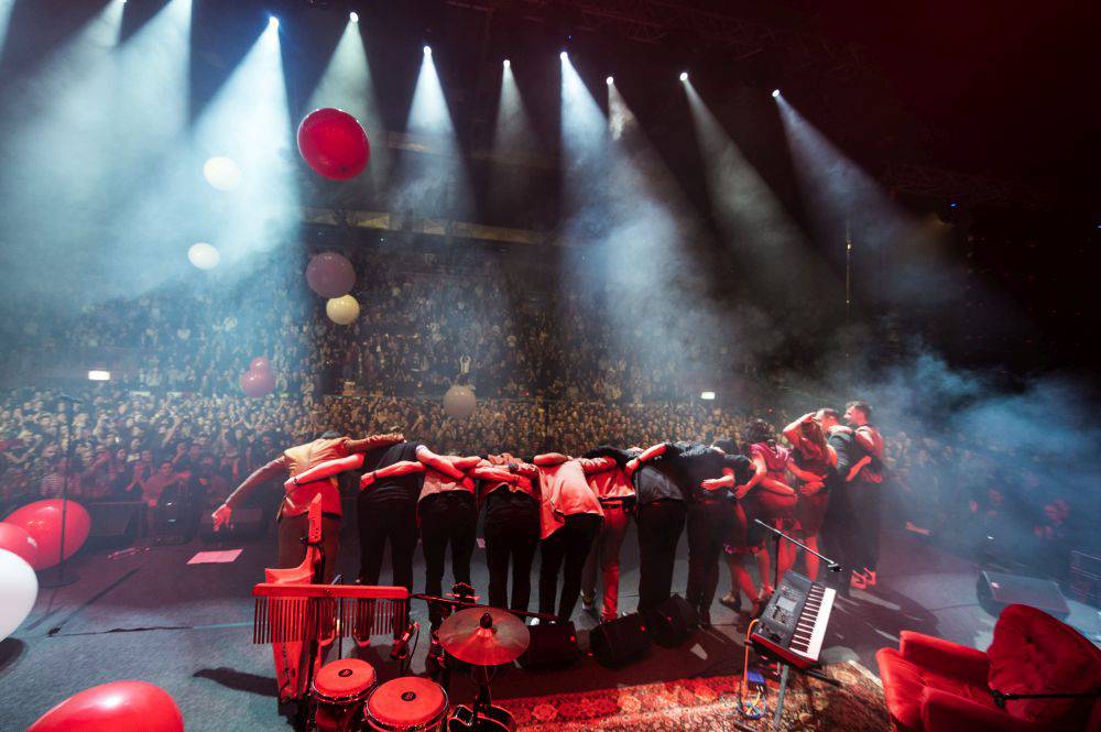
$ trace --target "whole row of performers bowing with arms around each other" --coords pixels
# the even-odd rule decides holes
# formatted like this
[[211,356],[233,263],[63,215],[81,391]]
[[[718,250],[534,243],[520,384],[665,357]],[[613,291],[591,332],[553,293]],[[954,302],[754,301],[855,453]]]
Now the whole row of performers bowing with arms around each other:
[[[215,511],[215,527],[230,522],[233,507],[255,487],[290,474],[279,511],[279,566],[302,561],[306,506],[320,495],[325,575],[331,579],[341,518],[336,477],[357,471],[360,582],[380,582],[389,543],[392,583],[412,591],[419,535],[427,594],[442,593],[448,547],[455,581],[470,583],[478,513],[483,510],[490,604],[528,609],[531,569],[538,549],[538,612],[565,621],[579,597],[592,605],[598,573],[601,615],[604,620],[618,615],[619,556],[631,515],[639,526],[639,609],[659,605],[672,592],[676,548],[687,525],[685,598],[706,624],[724,555],[731,587],[749,597],[751,611],[771,592],[766,583],[755,586],[744,566],[748,557],[755,557],[760,577],[770,577],[764,536],[754,531],[753,518],[798,531],[814,542],[826,511],[828,472],[837,470],[838,460],[821,434],[814,439],[804,436],[806,422],[805,417],[785,430],[796,446],[791,459],[763,422],[754,425],[748,457],[729,439],[710,446],[661,443],[645,450],[602,446],[580,458],[557,452],[530,459],[509,454],[442,456],[396,431],[364,439],[330,431],[286,449],[249,476]],[[860,468],[852,462],[851,469]],[[792,481],[797,489],[784,482],[787,471],[797,479]],[[782,553],[781,571],[794,559],[794,553]],[[815,573],[813,560],[808,564]],[[733,596],[724,601],[740,604]],[[440,619],[430,621],[435,626]]]

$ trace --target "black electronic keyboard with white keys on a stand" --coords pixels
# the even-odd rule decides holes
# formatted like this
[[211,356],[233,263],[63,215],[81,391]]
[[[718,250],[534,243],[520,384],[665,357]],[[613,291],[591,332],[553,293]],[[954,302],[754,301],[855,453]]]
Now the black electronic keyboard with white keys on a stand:
[[836,594],[798,572],[787,572],[753,626],[750,641],[782,663],[802,669],[815,666]]

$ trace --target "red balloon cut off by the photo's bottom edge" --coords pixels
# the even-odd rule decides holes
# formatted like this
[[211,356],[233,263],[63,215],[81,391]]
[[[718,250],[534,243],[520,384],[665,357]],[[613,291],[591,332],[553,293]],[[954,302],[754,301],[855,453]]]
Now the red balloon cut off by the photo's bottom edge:
[[184,715],[168,692],[145,681],[112,681],[57,704],[26,732],[184,732]]

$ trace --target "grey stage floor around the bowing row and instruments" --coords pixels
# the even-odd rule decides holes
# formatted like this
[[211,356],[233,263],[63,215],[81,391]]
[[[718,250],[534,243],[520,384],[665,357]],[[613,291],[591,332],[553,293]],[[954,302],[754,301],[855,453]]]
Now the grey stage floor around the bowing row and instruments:
[[[345,577],[355,576],[355,532],[346,531],[339,565]],[[686,544],[680,542],[674,581],[682,593]],[[622,611],[631,611],[637,601],[639,579],[633,524],[623,546],[620,602]],[[874,671],[875,652],[896,645],[902,630],[986,647],[994,619],[975,599],[977,565],[909,534],[884,535],[882,546],[879,587],[872,592],[853,591],[850,600],[839,599],[835,607],[826,662],[854,659]],[[244,550],[232,564],[187,565],[197,551],[217,548]],[[276,713],[271,651],[251,644],[250,590],[273,558],[273,537],[246,544],[154,546],[113,559],[108,554],[85,550],[78,555],[70,567],[79,580],[40,590],[31,615],[0,644],[0,728],[25,729],[55,703],[90,686],[138,679],[167,690],[188,730],[290,729]],[[722,576],[720,593],[728,587],[724,569]],[[415,577],[419,590],[424,578],[419,551]],[[473,560],[476,587],[484,590],[487,579],[484,549],[479,548]],[[1069,622],[1095,638],[1101,633],[1098,611],[1070,604]],[[415,602],[413,611],[427,625],[424,604]],[[512,668],[494,681],[494,696],[531,697],[739,674],[738,618],[716,603],[712,619],[711,630],[701,631],[682,647],[654,646],[647,657],[620,669],[604,668],[590,657],[564,670]],[[579,642],[587,648],[586,631],[596,621],[580,608],[574,620]],[[426,645],[422,636],[414,673],[424,668]],[[368,655],[382,680],[396,675],[388,652],[389,643]],[[454,680],[453,701],[469,700],[472,692],[468,680]]]

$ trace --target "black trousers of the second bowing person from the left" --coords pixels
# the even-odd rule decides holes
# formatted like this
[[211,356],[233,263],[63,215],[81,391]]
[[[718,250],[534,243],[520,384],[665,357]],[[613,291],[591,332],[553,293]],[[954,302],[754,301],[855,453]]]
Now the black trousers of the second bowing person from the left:
[[416,550],[416,502],[360,493],[356,504],[359,518],[359,580],[378,584],[382,555],[390,542],[393,583],[413,591],[413,553]]

